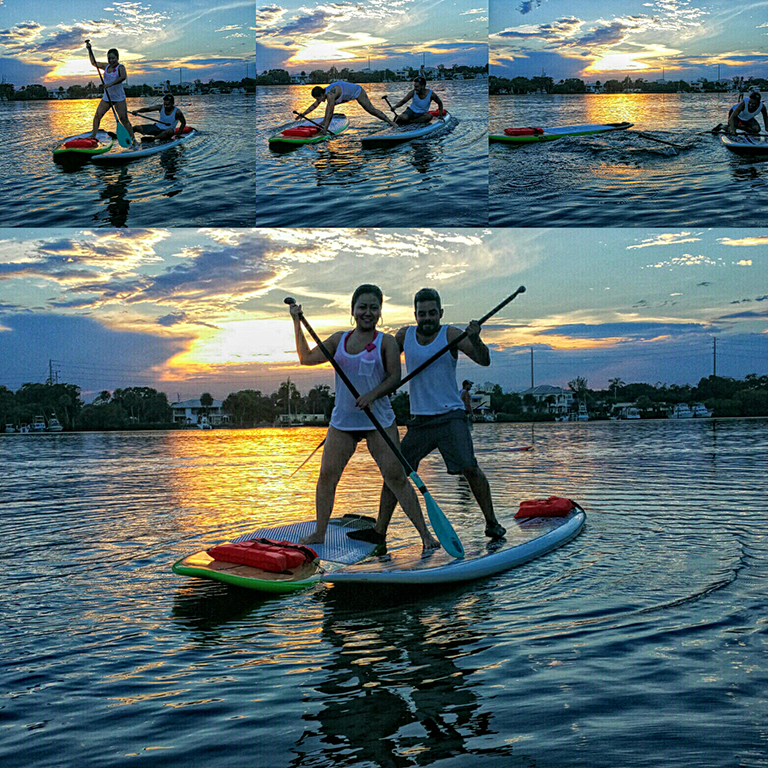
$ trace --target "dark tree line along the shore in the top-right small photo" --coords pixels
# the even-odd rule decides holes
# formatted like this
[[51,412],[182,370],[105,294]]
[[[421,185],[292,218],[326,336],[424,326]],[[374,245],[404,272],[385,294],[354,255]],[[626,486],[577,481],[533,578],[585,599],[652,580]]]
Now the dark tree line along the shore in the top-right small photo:
[[[664,82],[650,82],[638,77],[632,80],[627,76],[623,80],[607,80],[601,83],[599,80],[595,83],[596,88],[603,93],[693,93],[703,91],[704,93],[715,93],[725,91],[725,81],[710,81],[706,78],[701,83],[701,88],[694,87],[685,80],[665,80]],[[730,81],[738,91],[749,91],[751,89],[764,90],[768,88],[768,80],[760,77],[750,77],[745,80],[743,77],[734,77]],[[560,80],[557,83],[554,78],[546,77],[496,77],[491,75],[488,78],[488,93],[492,96],[504,94],[526,94],[526,93],[587,93],[589,91],[587,84],[577,77]]]

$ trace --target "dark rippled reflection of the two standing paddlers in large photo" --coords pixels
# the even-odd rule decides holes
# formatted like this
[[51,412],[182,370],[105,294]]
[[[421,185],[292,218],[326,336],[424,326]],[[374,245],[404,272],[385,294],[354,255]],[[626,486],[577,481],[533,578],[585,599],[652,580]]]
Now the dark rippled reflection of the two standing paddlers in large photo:
[[[494,733],[469,682],[475,670],[458,664],[456,653],[457,637],[462,648],[484,639],[478,627],[491,620],[490,594],[437,611],[430,600],[393,607],[384,597],[377,605],[386,610],[366,614],[374,594],[334,587],[323,596],[330,663],[322,664],[325,679],[305,683],[305,701],[322,706],[304,715],[294,748],[301,765],[319,754],[337,766],[432,765],[466,755],[469,739]],[[405,759],[409,747],[418,760]]]

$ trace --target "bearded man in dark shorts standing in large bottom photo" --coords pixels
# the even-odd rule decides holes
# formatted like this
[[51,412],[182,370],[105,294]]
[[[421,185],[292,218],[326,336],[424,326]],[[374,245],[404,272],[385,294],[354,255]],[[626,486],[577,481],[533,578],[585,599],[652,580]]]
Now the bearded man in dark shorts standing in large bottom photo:
[[[453,325],[440,324],[443,309],[436,290],[422,288],[414,297],[413,305],[416,327],[406,326],[395,334],[398,347],[405,352],[405,364],[409,370],[415,370],[462,333]],[[456,382],[459,350],[482,366],[491,364],[491,355],[480,339],[480,324],[476,320],[469,323],[466,332],[466,338],[456,347],[438,357],[411,380],[412,419],[403,438],[402,453],[418,471],[419,462],[437,448],[448,474],[466,478],[485,518],[485,535],[496,541],[507,531],[496,519],[488,479],[477,464],[466,407]],[[392,388],[382,390],[386,394],[392,391]],[[385,484],[374,528],[354,531],[347,536],[373,543],[384,542],[394,509],[395,497]]]

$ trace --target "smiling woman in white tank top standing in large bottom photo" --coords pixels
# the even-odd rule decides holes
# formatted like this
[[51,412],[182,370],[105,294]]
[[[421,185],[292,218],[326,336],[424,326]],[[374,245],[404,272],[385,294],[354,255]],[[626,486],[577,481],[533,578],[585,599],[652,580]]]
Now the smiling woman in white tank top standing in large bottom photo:
[[[388,488],[392,488],[393,498],[400,502],[419,532],[424,550],[440,546],[427,529],[416,491],[408,481],[402,465],[363,411],[363,408],[369,407],[392,442],[399,444],[392,405],[389,398],[381,397],[383,391],[396,389],[400,381],[400,354],[397,343],[392,335],[376,329],[381,320],[382,301],[382,293],[377,286],[359,286],[352,296],[354,329],[334,333],[324,342],[357,391],[365,394],[355,400],[336,374],[336,400],[325,438],[325,450],[315,491],[317,528],[314,533],[301,539],[300,544],[322,544],[325,541],[328,520],[333,512],[336,486],[357,444],[365,439],[371,456],[379,465],[384,482]],[[310,350],[307,344],[301,324],[300,304],[291,305],[291,317],[299,362],[302,365],[328,362],[319,347]]]

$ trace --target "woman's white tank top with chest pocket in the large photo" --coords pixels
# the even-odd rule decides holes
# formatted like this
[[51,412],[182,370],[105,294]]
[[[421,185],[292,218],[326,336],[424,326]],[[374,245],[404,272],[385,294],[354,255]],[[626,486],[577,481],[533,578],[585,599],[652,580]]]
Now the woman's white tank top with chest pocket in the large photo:
[[[374,340],[362,352],[351,355],[346,350],[347,339],[352,331],[345,334],[339,344],[333,359],[339,364],[347,378],[354,384],[355,389],[364,395],[375,387],[378,387],[387,377],[384,363],[381,359],[381,344],[384,335],[377,333]],[[395,412],[388,397],[380,397],[371,405],[373,415],[378,419],[382,427],[388,427],[395,420]],[[360,430],[376,429],[373,422],[364,411],[355,405],[355,397],[347,389],[347,385],[336,374],[336,400],[331,414],[331,426],[342,432],[357,432]]]

